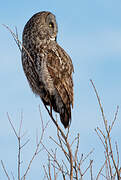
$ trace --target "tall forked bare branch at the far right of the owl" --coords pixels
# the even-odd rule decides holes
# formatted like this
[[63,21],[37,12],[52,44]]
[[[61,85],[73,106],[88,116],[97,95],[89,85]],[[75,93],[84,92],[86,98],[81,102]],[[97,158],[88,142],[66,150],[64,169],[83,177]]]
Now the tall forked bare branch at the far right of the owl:
[[[101,113],[102,113],[102,117],[103,117],[103,122],[104,122],[104,127],[105,127],[105,130],[106,130],[106,135],[102,132],[101,129],[97,128],[98,131],[101,133],[102,137],[104,138],[104,140],[102,139],[102,137],[100,136],[100,134],[97,132],[96,130],[96,133],[98,135],[98,137],[100,138],[105,150],[106,150],[106,154],[105,154],[105,157],[106,157],[106,167],[107,167],[107,172],[108,172],[108,169],[109,169],[109,172],[110,172],[110,178],[114,178],[115,174],[113,175],[113,167],[111,166],[111,163],[113,163],[114,165],[114,168],[116,170],[116,174],[117,174],[117,179],[119,180],[120,179],[120,173],[119,173],[119,154],[118,154],[118,147],[116,145],[116,151],[117,151],[117,164],[116,164],[116,161],[114,159],[114,153],[113,153],[113,149],[112,149],[112,142],[111,142],[111,137],[110,137],[110,133],[111,133],[111,130],[114,126],[114,123],[116,121],[116,118],[117,118],[117,114],[118,114],[118,109],[119,109],[119,106],[117,106],[117,109],[116,109],[116,113],[115,113],[115,116],[114,116],[114,120],[110,125],[108,125],[107,123],[107,120],[105,118],[105,115],[104,115],[104,112],[103,112],[103,108],[102,108],[102,105],[101,105],[101,102],[100,102],[100,98],[98,96],[98,93],[97,93],[97,90],[95,88],[95,85],[93,83],[92,80],[91,81],[91,84],[94,88],[94,91],[96,93],[96,96],[97,96],[97,99],[98,99],[98,103],[99,103],[99,107],[101,109]],[[111,161],[112,160],[112,161]],[[109,176],[109,175],[108,175]]]

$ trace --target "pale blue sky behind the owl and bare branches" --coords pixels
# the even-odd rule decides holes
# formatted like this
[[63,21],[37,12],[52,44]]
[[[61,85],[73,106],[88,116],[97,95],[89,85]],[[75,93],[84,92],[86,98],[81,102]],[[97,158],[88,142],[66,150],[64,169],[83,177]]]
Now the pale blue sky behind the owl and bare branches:
[[[1,25],[11,29],[17,26],[21,40],[24,25],[36,12],[51,11],[58,23],[58,43],[71,56],[74,64],[74,109],[71,136],[80,133],[80,152],[88,153],[95,148],[94,168],[103,163],[103,148],[94,129],[103,125],[101,113],[91,86],[92,79],[99,91],[106,117],[111,121],[116,106],[119,113],[113,129],[113,140],[117,140],[121,152],[121,1],[2,1],[0,5],[0,159],[16,175],[17,140],[10,128],[6,112],[15,127],[19,127],[23,111],[23,131],[27,130],[30,143],[22,157],[31,158],[36,145],[36,130],[40,128],[38,106],[46,123],[49,119],[41,100],[31,92],[21,65],[20,52],[10,33]],[[49,136],[55,136],[54,125],[49,123],[45,144],[52,146]],[[55,128],[54,128],[55,129]],[[31,148],[32,147],[32,148]],[[52,146],[55,148],[55,146]],[[98,153],[98,156],[97,156]],[[90,157],[91,158],[91,157]],[[40,161],[38,162],[38,159]],[[40,153],[32,166],[28,179],[37,179],[46,159]],[[26,165],[26,163],[25,163]],[[24,163],[23,163],[24,166]],[[97,169],[97,168],[96,168]],[[35,174],[37,177],[35,177]],[[5,179],[0,167],[0,179]]]

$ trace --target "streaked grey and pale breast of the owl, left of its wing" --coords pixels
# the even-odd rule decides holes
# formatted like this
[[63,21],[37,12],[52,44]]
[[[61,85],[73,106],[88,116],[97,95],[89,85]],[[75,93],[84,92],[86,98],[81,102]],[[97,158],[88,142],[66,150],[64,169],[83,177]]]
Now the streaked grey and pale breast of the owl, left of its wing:
[[46,97],[47,92],[50,95],[55,94],[53,80],[47,69],[46,54],[43,52],[37,53],[36,55],[30,53],[33,62],[26,55],[26,52],[22,53],[23,69],[29,85],[32,91],[41,98]]

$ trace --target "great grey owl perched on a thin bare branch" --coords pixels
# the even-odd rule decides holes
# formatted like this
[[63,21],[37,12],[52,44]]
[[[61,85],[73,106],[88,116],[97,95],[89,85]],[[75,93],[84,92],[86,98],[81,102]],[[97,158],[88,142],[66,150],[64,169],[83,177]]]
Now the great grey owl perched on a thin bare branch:
[[64,127],[71,121],[74,71],[71,58],[57,43],[58,27],[51,12],[39,12],[26,23],[22,65],[32,91],[60,114]]

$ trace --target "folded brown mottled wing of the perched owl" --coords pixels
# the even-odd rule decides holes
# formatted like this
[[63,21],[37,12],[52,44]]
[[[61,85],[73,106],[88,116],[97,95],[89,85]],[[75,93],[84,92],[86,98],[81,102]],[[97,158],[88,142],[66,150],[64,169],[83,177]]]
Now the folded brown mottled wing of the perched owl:
[[48,50],[47,68],[63,103],[73,107],[73,65],[71,58],[58,44]]

